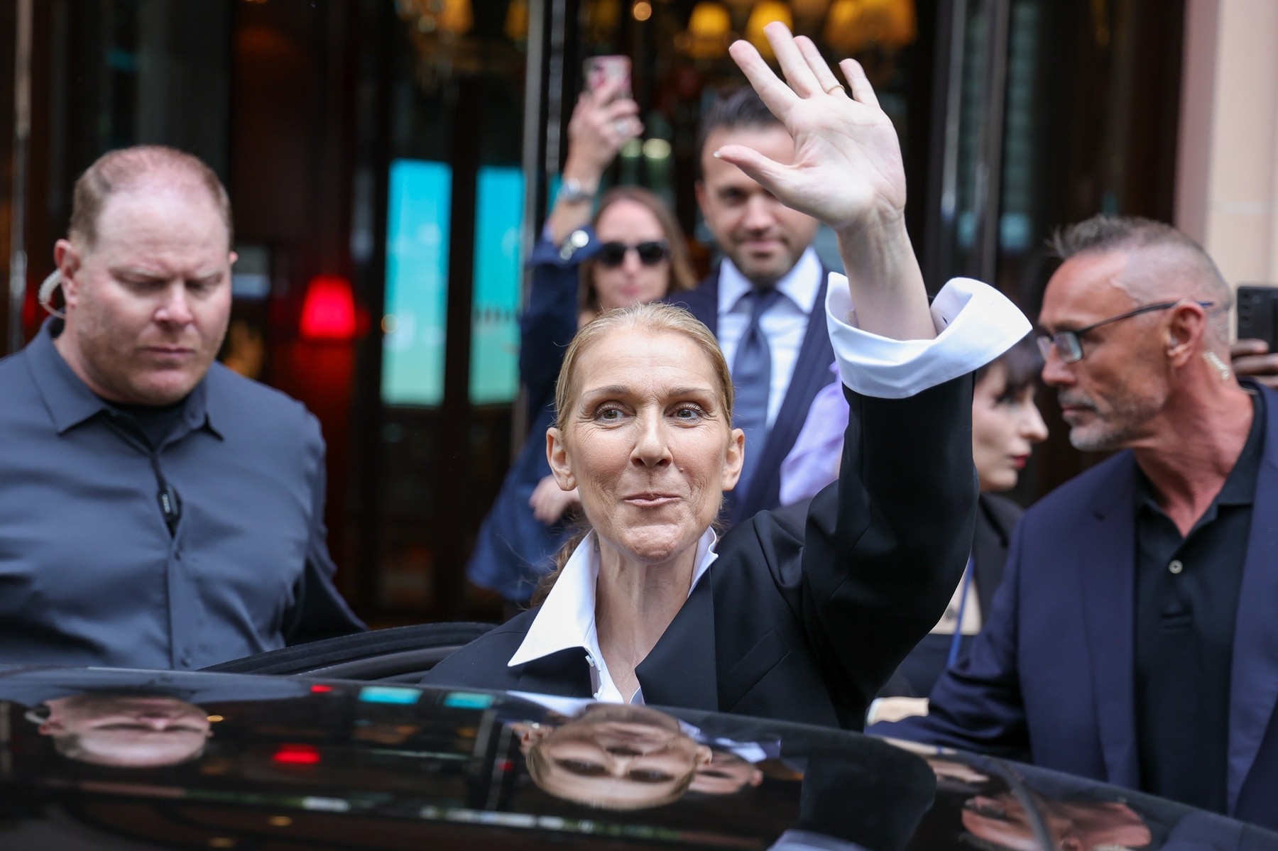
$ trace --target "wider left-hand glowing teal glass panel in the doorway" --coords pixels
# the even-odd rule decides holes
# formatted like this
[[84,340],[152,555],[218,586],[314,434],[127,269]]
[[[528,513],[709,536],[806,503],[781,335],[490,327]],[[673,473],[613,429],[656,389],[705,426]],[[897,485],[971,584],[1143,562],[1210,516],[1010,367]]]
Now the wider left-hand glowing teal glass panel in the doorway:
[[452,170],[442,162],[391,164],[386,230],[382,401],[443,401]]

